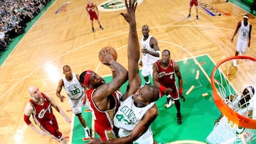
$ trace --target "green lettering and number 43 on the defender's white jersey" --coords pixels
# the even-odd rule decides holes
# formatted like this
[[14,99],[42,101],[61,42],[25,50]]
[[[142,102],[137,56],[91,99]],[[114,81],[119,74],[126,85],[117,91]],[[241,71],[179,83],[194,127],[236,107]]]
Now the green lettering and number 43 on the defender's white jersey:
[[116,118],[118,121],[124,121],[124,124],[127,125],[137,121],[135,113],[132,111],[132,109],[129,109],[128,106],[122,107],[122,109],[120,109],[120,112],[121,113],[116,114]]

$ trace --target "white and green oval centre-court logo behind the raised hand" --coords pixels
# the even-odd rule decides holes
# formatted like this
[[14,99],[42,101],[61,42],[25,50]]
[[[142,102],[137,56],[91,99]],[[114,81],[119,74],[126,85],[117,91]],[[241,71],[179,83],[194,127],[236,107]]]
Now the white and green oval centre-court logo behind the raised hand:
[[[143,0],[135,0],[138,4],[141,4]],[[125,9],[123,0],[108,0],[97,6],[99,11],[119,11]]]

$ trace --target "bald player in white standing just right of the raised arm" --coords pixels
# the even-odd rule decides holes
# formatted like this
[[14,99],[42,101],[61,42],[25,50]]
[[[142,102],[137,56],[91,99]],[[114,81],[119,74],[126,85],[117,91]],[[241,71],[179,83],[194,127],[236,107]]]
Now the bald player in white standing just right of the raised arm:
[[159,60],[161,52],[156,38],[149,35],[149,26],[142,26],[142,60],[139,65],[142,66],[142,76],[144,77],[146,84],[150,84],[149,75],[153,77],[153,64],[156,60]]

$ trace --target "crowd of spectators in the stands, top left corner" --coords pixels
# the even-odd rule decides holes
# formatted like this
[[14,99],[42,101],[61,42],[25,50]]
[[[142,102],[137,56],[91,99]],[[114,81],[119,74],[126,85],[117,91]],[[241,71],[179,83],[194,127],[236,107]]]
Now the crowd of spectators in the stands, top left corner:
[[25,32],[31,21],[50,0],[0,0],[0,51],[11,39]]

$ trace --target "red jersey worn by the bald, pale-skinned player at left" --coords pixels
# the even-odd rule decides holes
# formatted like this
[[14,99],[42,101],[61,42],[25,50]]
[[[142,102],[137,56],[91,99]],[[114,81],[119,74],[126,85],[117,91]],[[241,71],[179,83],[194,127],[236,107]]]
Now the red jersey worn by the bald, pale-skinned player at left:
[[41,94],[43,96],[43,105],[37,104],[32,99],[29,101],[32,104],[33,109],[35,109],[32,116],[38,126],[42,126],[44,123],[49,123],[49,121],[53,118],[53,110],[51,109],[50,101],[43,93]]

